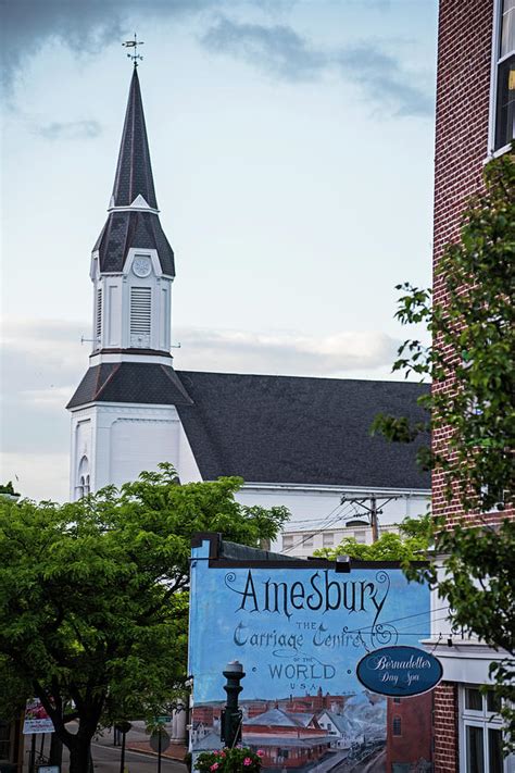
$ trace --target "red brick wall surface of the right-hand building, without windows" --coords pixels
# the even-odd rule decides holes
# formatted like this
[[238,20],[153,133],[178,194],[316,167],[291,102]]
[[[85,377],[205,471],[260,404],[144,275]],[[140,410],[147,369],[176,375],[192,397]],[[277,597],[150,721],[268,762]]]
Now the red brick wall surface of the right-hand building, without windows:
[[[481,184],[488,154],[488,120],[493,0],[440,0],[438,32],[437,121],[435,151],[435,265],[444,245],[459,237],[465,199]],[[435,300],[444,301],[435,279]],[[452,389],[452,384],[438,385]],[[445,446],[445,431],[435,434]],[[441,474],[434,474],[432,508],[456,515],[445,500]],[[435,690],[435,773],[459,770],[457,686],[442,682]]]

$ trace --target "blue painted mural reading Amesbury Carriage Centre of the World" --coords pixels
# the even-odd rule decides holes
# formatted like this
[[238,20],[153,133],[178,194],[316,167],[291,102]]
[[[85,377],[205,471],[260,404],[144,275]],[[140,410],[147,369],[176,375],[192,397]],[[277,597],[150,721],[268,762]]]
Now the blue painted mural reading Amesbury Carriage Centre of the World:
[[[238,660],[246,672],[242,743],[263,752],[265,771],[380,773],[387,761],[429,762],[430,737],[425,744],[420,727],[405,724],[416,724],[420,711],[430,716],[427,702],[416,702],[425,696],[409,699],[403,720],[412,753],[405,743],[395,747],[391,699],[356,674],[368,652],[429,635],[427,587],[391,565],[341,574],[324,560],[217,560],[212,541],[199,541],[190,591],[193,752],[223,746],[222,672]],[[423,725],[427,735],[430,721]]]

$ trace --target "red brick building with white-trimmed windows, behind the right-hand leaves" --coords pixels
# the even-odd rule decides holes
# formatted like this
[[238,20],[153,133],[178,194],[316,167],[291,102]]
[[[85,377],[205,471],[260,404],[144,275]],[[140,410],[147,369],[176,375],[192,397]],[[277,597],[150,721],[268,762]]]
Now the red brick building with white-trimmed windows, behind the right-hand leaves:
[[[435,264],[444,245],[459,236],[464,201],[480,187],[485,162],[510,151],[514,125],[515,0],[440,0]],[[436,301],[442,292],[437,280]],[[435,442],[442,441],[436,433]],[[438,475],[432,496],[436,514],[456,515]],[[513,511],[506,514],[513,516]],[[502,656],[475,639],[448,641],[449,622],[437,612],[441,607],[435,599],[431,648],[443,664],[443,682],[435,690],[435,773],[513,771],[515,760],[502,758],[493,696],[478,690],[489,683],[489,663]]]

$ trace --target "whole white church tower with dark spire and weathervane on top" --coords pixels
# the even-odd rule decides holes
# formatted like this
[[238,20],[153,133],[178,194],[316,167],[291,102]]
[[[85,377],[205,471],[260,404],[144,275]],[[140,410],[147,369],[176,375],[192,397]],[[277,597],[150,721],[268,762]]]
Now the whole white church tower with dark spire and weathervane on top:
[[[136,36],[124,45],[137,65]],[[91,253],[89,369],[67,404],[73,499],[134,481],[163,460],[179,470],[181,454],[191,453],[176,406],[192,401],[171,353],[174,276],[135,66],[108,220]]]

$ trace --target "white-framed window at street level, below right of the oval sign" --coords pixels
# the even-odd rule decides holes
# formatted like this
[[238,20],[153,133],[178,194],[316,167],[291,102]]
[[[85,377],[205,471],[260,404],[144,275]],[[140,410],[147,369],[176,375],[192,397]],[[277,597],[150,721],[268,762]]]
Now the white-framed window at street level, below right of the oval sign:
[[515,756],[503,755],[503,723],[493,690],[462,687],[460,695],[461,773],[513,773]]

